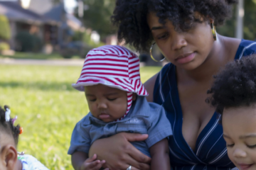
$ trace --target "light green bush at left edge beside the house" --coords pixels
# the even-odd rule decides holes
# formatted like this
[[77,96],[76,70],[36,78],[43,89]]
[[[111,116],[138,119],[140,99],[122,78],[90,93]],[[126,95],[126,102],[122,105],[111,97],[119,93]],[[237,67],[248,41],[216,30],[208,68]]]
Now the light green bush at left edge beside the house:
[[11,38],[11,28],[6,16],[0,15],[0,39],[9,40]]

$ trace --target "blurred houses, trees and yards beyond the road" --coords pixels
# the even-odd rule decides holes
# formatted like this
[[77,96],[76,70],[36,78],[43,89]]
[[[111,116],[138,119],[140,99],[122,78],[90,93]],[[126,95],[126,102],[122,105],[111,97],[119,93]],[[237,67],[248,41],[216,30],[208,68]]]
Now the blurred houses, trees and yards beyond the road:
[[[239,2],[218,33],[256,40],[256,0]],[[115,0],[1,0],[0,57],[84,58],[94,47],[117,45],[110,23],[114,5]]]

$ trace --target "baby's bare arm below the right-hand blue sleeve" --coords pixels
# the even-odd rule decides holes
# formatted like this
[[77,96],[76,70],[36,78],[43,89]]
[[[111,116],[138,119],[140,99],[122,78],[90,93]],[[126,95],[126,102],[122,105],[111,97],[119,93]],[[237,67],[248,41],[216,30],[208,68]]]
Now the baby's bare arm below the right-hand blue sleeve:
[[164,139],[157,142],[149,149],[151,154],[151,170],[170,170],[169,145],[168,140]]

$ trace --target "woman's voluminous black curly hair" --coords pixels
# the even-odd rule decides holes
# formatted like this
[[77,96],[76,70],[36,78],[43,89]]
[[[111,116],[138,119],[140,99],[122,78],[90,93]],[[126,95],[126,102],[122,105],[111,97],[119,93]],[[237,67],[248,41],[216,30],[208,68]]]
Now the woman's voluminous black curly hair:
[[[189,30],[203,18],[213,18],[215,26],[222,25],[230,16],[231,5],[238,0],[117,0],[112,23],[118,26],[118,39],[125,40],[139,51],[146,51],[153,40],[146,22],[149,12],[156,13],[159,23],[169,19],[176,30]],[[184,22],[186,21],[186,22]]]

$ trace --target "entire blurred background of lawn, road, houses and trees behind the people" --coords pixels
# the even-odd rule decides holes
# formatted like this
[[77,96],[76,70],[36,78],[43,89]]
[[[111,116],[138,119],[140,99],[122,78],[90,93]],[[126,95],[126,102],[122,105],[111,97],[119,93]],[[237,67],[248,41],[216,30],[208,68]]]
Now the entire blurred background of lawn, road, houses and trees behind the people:
[[[110,23],[114,5],[115,0],[0,0],[0,106],[8,104],[23,127],[18,151],[49,169],[72,169],[71,133],[89,110],[84,94],[71,84],[90,49],[120,45]],[[256,0],[239,0],[233,17],[217,31],[255,40]],[[139,55],[144,82],[164,63]]]

